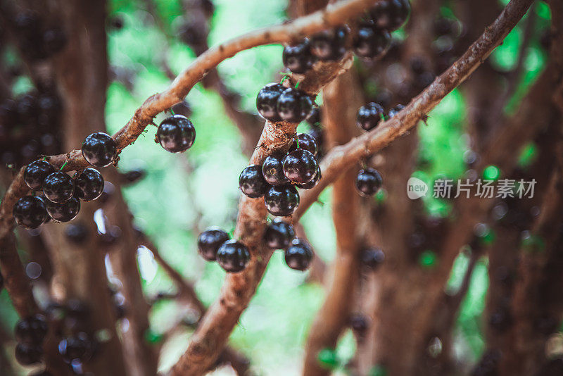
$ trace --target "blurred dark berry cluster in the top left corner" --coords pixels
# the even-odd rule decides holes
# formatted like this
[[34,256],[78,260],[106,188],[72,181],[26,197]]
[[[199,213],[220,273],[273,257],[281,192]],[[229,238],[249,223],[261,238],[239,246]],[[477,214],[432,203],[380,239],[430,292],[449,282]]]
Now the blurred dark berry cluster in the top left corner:
[[23,11],[7,19],[18,38],[19,50],[33,61],[49,58],[62,51],[67,44],[67,37],[61,27],[44,25],[36,13]]

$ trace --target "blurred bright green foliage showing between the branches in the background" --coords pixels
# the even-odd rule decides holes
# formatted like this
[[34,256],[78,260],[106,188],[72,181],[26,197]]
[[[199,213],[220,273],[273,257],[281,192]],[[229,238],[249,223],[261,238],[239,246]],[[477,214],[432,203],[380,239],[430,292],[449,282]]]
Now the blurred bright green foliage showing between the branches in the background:
[[[503,0],[503,2],[507,2]],[[121,30],[108,31],[110,65],[134,77],[132,89],[117,81],[108,87],[106,122],[110,132],[115,132],[151,94],[169,84],[164,65],[177,74],[191,61],[194,52],[174,37],[182,22],[179,0],[155,1],[156,15],[146,11],[146,2],[140,0],[111,0],[110,17],[120,16],[125,21]],[[216,11],[211,22],[209,44],[215,45],[257,27],[283,22],[286,18],[286,1],[281,0],[215,0]],[[511,113],[517,107],[529,84],[545,65],[545,52],[538,40],[548,25],[548,7],[540,2],[534,10],[538,14],[529,49],[524,51],[522,82],[506,108]],[[446,10],[450,14],[451,11]],[[156,26],[154,16],[162,20],[164,34]],[[529,16],[529,15],[528,15]],[[493,66],[510,71],[517,63],[524,25],[519,25],[507,36],[505,42],[491,56]],[[404,33],[398,33],[404,35]],[[244,51],[229,58],[219,66],[219,71],[230,89],[241,94],[241,105],[255,112],[255,95],[267,82],[277,77],[281,70],[281,46],[262,46]],[[13,88],[24,92],[30,87],[27,78],[21,78]],[[172,155],[154,144],[156,128],[148,127],[134,146],[121,154],[120,168],[144,167],[148,175],[144,180],[125,189],[125,196],[141,227],[169,261],[187,279],[196,281],[195,287],[205,304],[213,302],[219,293],[224,272],[216,263],[205,263],[196,251],[196,237],[204,227],[218,225],[232,231],[236,220],[239,189],[237,179],[247,163],[241,153],[241,137],[231,120],[225,115],[222,102],[215,92],[196,85],[186,100],[191,105],[196,125],[196,142],[187,153]],[[456,89],[445,97],[429,114],[426,125],[418,127],[419,168],[413,176],[432,186],[438,177],[457,180],[466,170],[464,154],[469,150],[464,122],[467,108],[462,90]],[[163,114],[156,118],[160,123]],[[521,153],[521,165],[529,163],[536,153],[535,146],[527,146]],[[502,172],[500,172],[502,174]],[[384,191],[378,196],[384,200]],[[325,261],[334,258],[335,234],[330,215],[330,189],[320,196],[303,218],[310,242]],[[322,203],[325,203],[324,205]],[[445,217],[450,204],[429,196],[424,199],[429,215]],[[533,242],[536,244],[537,242]],[[420,258],[425,268],[438,262],[434,251],[426,251]],[[459,289],[469,264],[465,253],[458,256],[448,291]],[[141,272],[148,266],[141,265]],[[165,272],[158,268],[153,277],[142,273],[144,289],[149,295],[173,292],[174,286]],[[251,358],[258,374],[297,375],[300,369],[303,344],[310,323],[324,299],[322,287],[305,284],[306,274],[284,265],[281,253],[275,253],[268,265],[264,280],[250,307],[243,313],[232,334],[234,346]],[[483,313],[488,273],[486,258],[478,261],[471,277],[469,291],[457,319],[454,337],[454,354],[462,361],[475,361],[483,351]],[[161,302],[151,313],[151,330],[146,339],[155,343],[169,329],[181,310],[172,302]],[[17,320],[6,292],[0,294],[0,318],[5,327],[13,327]],[[184,351],[189,330],[177,334],[163,348],[161,368],[169,367],[179,353]],[[343,366],[353,357],[355,341],[348,331],[339,341],[337,349],[320,354],[322,362],[330,368]],[[281,373],[279,370],[283,370]],[[377,367],[371,375],[386,375]]]

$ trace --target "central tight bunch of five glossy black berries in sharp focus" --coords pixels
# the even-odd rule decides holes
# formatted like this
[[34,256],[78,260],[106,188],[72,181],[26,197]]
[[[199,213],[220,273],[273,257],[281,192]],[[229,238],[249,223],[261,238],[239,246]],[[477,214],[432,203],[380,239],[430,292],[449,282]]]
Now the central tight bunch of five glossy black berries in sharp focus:
[[267,211],[286,217],[299,205],[296,187],[311,189],[321,178],[318,146],[308,133],[296,135],[288,153],[267,156],[262,165],[250,165],[239,176],[239,188],[252,199],[264,197]]

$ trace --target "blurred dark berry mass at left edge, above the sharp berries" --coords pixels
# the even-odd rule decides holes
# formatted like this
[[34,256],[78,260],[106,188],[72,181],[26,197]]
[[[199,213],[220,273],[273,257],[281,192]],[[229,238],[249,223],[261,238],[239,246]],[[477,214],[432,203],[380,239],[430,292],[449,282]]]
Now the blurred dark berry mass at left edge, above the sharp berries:
[[49,88],[0,104],[0,163],[17,168],[39,154],[61,153],[61,100]]

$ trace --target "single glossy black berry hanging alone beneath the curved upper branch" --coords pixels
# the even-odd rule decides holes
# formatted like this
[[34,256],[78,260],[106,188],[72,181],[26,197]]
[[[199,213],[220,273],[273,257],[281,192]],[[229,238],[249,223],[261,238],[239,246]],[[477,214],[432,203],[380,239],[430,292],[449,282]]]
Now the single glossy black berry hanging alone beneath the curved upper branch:
[[166,151],[182,153],[194,144],[196,128],[185,116],[172,115],[160,123],[156,139]]

